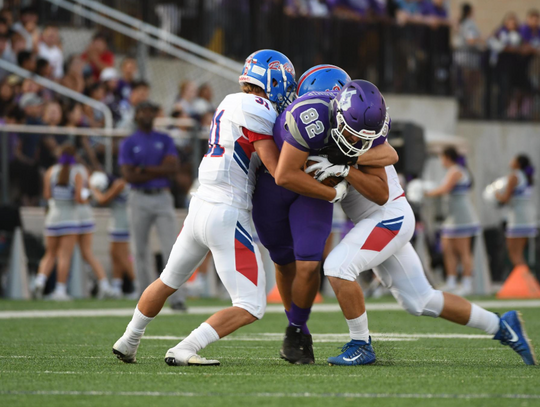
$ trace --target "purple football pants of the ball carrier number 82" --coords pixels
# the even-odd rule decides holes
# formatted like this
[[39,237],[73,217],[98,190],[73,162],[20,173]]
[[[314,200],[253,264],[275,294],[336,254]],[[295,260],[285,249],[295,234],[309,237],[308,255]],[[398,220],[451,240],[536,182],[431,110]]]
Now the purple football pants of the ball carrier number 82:
[[266,171],[259,172],[253,194],[253,222],[261,243],[280,266],[321,261],[332,231],[333,205],[277,186]]

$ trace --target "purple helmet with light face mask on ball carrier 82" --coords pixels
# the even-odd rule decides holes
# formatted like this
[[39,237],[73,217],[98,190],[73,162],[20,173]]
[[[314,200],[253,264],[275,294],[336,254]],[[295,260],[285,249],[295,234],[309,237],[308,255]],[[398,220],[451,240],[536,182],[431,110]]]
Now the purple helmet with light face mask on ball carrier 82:
[[373,140],[388,134],[386,103],[371,82],[357,79],[346,83],[332,103],[336,126],[332,138],[346,156],[364,154]]

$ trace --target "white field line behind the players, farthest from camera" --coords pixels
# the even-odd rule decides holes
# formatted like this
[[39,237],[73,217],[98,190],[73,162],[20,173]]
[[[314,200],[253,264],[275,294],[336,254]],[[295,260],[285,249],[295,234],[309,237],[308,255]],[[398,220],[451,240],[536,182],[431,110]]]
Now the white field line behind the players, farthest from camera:
[[[512,301],[475,301],[475,304],[488,309],[520,309],[540,308],[540,300],[512,300]],[[69,303],[65,304],[69,307]],[[367,303],[367,310],[373,311],[398,311],[401,310],[396,303]],[[210,315],[226,308],[225,306],[194,306],[189,307],[188,315]],[[313,312],[341,312],[338,304],[315,304]],[[266,307],[268,314],[283,313],[283,306],[269,305]],[[0,311],[0,319],[12,318],[72,318],[72,317],[130,317],[133,315],[132,308],[112,309],[62,309],[62,310],[27,310],[27,311]],[[170,308],[164,308],[160,315],[182,315]]]

